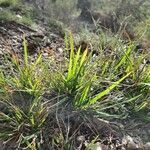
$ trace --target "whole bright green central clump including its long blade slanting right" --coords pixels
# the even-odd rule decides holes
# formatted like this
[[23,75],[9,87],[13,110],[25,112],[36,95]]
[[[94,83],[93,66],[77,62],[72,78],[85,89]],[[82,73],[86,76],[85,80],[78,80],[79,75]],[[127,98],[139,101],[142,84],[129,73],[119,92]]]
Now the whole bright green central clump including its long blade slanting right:
[[[101,91],[98,94],[90,96],[91,88],[96,80],[96,73],[91,73],[89,70],[90,54],[88,49],[85,49],[83,54],[80,52],[80,48],[75,53],[74,42],[72,36],[70,36],[69,44],[67,42],[67,49],[70,45],[70,58],[68,64],[67,74],[60,74],[60,79],[55,81],[57,84],[55,87],[58,91],[69,94],[69,97],[77,108],[87,108],[108,93],[116,88],[125,78],[127,78],[131,72],[127,73],[124,77],[114,82],[111,86],[106,87],[106,90]],[[91,62],[92,63],[92,62]],[[93,64],[94,66],[94,64]],[[91,74],[91,76],[89,75]]]

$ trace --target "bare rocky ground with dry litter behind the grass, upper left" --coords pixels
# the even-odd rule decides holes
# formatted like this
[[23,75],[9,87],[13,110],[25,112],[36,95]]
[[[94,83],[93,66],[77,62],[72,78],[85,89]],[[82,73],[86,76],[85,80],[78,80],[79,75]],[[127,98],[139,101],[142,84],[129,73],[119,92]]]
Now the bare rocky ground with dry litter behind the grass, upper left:
[[62,58],[64,41],[60,35],[47,31],[44,27],[29,28],[14,21],[0,22],[0,62],[6,54],[23,54],[23,37],[27,41],[29,55],[32,58],[38,53],[43,57]]

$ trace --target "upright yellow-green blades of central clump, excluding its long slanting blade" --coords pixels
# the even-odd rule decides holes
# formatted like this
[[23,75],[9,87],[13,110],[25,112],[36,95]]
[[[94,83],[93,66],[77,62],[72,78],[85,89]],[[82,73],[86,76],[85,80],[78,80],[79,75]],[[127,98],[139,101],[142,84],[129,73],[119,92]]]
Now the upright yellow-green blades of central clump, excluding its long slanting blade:
[[87,75],[85,68],[88,62],[88,49],[86,49],[84,53],[81,54],[81,49],[79,48],[75,54],[74,41],[72,36],[69,40],[66,37],[66,45],[67,48],[71,49],[67,74],[58,72],[57,75],[59,79],[58,82],[57,80],[54,80],[54,86],[55,88],[58,88],[58,91],[73,96],[76,95],[77,91],[83,86],[83,84],[85,84],[84,78]]

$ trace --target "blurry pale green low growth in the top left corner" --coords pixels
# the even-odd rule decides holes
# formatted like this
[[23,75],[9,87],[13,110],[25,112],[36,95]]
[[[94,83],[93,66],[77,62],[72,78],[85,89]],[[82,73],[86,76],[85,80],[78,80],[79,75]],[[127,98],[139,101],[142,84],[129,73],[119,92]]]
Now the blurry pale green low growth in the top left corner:
[[25,25],[31,25],[34,18],[37,16],[35,8],[32,5],[29,6],[20,0],[0,1],[0,4],[8,7],[2,8],[0,12],[0,20],[15,21]]

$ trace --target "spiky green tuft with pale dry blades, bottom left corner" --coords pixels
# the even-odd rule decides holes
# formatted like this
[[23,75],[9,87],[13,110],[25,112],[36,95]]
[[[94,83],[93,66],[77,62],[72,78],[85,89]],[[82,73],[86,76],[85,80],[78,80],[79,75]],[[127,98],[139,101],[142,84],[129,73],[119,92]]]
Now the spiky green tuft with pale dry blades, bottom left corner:
[[9,101],[4,102],[7,113],[0,112],[0,139],[10,145],[15,143],[15,148],[30,149],[33,144],[35,147],[40,147],[42,144],[40,141],[42,128],[48,115],[47,107],[39,100],[32,101],[27,112]]

